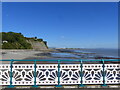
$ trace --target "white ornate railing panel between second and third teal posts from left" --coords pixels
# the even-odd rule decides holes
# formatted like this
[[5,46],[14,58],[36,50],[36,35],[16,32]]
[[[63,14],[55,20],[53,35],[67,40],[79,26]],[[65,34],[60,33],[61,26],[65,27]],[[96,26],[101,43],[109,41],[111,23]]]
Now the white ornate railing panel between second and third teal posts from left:
[[37,64],[36,68],[37,85],[57,85],[58,65],[57,64]]

